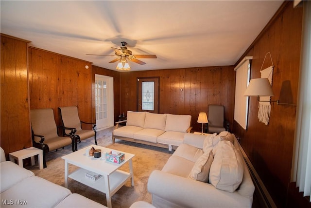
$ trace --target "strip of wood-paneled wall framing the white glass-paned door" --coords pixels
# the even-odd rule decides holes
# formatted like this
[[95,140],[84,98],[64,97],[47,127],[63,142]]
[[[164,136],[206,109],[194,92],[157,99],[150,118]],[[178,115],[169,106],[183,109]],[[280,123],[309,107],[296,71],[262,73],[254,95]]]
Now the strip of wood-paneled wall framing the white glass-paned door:
[[[114,119],[118,118],[120,113],[120,72],[104,69],[102,67],[92,67],[92,92],[95,92],[95,75],[104,75],[113,77],[113,98],[114,98]],[[92,93],[92,106],[95,107],[95,93]],[[95,118],[95,109],[93,111]]]

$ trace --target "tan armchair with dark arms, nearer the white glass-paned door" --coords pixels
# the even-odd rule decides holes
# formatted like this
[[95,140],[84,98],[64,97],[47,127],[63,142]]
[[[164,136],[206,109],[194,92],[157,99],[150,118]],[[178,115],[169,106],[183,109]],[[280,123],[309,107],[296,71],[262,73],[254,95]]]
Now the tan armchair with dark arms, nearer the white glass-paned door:
[[[70,135],[71,131],[75,131],[74,133],[74,135],[76,136],[75,150],[78,150],[77,142],[81,142],[81,140],[90,138],[92,136],[94,136],[95,144],[97,145],[96,124],[81,121],[79,118],[77,106],[59,107],[58,109],[60,111],[61,119],[64,126],[63,129],[64,135]],[[82,123],[91,125],[93,130],[83,130]]]

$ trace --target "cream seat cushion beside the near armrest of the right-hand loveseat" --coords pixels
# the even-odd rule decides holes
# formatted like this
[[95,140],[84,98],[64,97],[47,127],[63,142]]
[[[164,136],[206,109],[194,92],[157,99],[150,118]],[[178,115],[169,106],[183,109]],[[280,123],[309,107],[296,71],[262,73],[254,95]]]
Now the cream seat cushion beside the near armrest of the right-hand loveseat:
[[194,164],[194,162],[183,157],[172,155],[167,160],[162,171],[187,178]]

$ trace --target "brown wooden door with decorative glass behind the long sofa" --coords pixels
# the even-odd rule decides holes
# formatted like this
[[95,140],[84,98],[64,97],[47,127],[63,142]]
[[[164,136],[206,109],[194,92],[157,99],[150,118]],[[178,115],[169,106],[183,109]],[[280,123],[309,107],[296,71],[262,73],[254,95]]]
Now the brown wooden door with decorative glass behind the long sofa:
[[159,113],[159,77],[138,78],[138,111]]

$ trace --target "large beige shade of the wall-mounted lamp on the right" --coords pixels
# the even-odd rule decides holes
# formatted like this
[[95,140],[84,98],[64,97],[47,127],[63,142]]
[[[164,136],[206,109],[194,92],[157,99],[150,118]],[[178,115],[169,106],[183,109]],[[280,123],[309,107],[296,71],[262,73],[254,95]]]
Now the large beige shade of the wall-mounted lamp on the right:
[[274,96],[269,79],[251,79],[244,96]]

